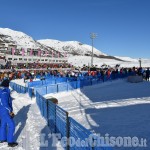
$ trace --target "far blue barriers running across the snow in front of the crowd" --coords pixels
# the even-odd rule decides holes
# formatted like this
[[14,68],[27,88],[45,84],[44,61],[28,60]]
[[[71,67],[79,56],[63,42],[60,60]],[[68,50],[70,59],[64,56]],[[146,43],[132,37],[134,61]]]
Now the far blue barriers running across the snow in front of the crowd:
[[[58,93],[63,91],[74,90],[77,88],[83,88],[84,86],[91,86],[101,82],[125,78],[129,75],[134,75],[134,73],[112,73],[110,76],[80,76],[78,78],[49,76],[49,78],[45,80],[29,82],[27,87],[20,87],[20,85],[17,84],[11,84],[11,86],[18,93],[28,92],[29,96],[32,98],[35,95],[36,90],[40,88],[43,94]],[[35,90],[32,90],[31,87],[33,87],[33,89],[35,88]]]

